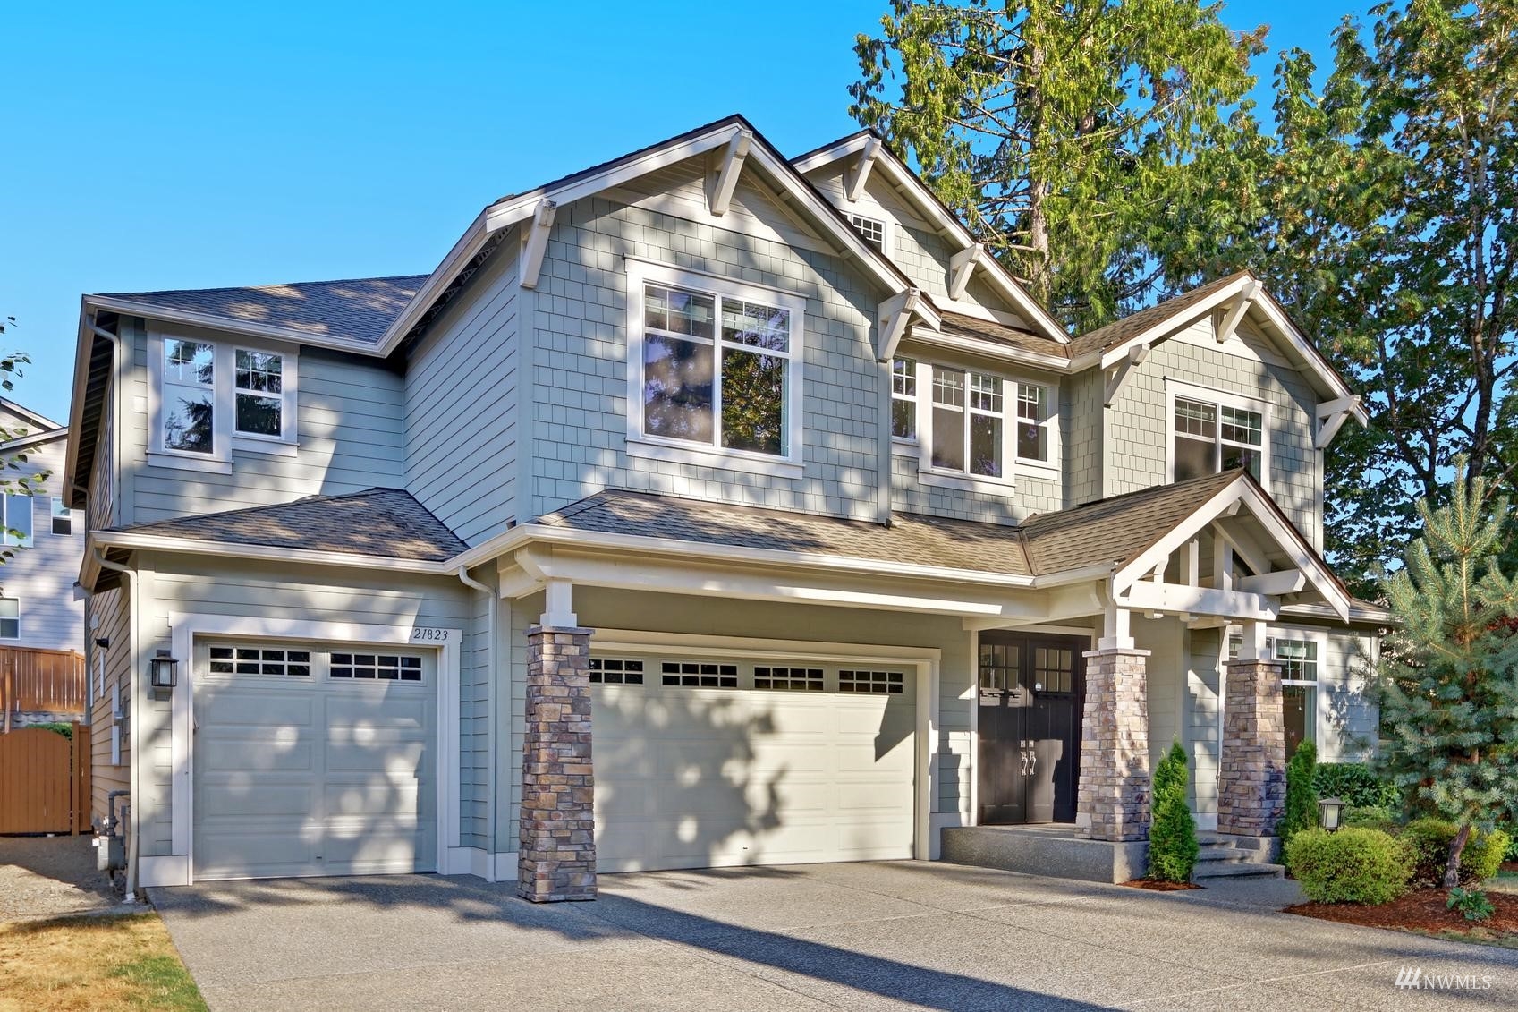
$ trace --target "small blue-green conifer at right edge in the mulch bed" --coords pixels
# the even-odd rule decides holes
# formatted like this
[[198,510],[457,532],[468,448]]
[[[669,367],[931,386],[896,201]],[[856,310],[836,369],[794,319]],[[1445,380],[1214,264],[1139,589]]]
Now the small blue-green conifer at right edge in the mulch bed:
[[1422,536],[1384,580],[1401,620],[1377,672],[1380,764],[1416,801],[1459,825],[1444,884],[1459,884],[1472,828],[1518,796],[1518,579],[1498,565],[1507,497],[1456,460],[1450,504],[1418,503]]

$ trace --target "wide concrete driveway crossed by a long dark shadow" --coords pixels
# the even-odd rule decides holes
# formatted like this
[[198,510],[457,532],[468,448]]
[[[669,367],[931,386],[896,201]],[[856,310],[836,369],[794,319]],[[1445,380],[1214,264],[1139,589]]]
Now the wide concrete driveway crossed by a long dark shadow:
[[[606,875],[556,906],[427,875],[152,898],[217,1010],[1518,1006],[1518,951],[1275,913],[1281,887],[899,862]],[[1489,986],[1400,989],[1404,966]]]

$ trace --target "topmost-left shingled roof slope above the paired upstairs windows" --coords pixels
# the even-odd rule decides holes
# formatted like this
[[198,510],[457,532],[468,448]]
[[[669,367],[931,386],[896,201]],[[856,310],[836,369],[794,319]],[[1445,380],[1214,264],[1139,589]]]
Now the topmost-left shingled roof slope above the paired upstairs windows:
[[393,278],[294,281],[241,289],[111,292],[102,298],[373,345],[427,278],[425,274],[408,274]]

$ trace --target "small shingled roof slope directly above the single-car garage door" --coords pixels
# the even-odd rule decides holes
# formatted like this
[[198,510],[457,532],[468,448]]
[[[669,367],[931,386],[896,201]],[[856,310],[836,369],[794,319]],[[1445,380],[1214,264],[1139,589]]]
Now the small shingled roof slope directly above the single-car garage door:
[[417,562],[443,562],[469,547],[410,492],[396,488],[310,495],[278,506],[178,517],[112,530]]

